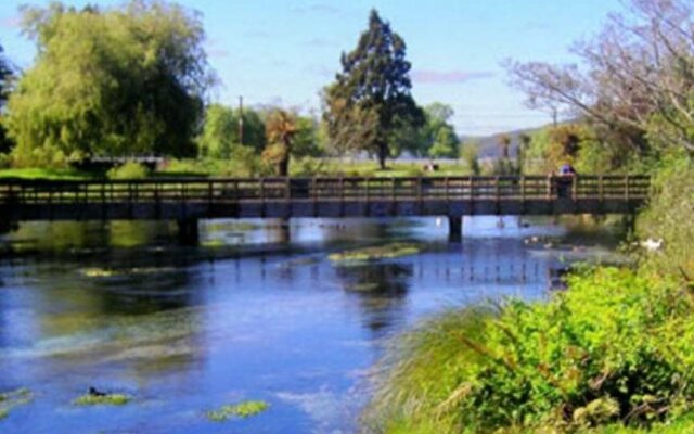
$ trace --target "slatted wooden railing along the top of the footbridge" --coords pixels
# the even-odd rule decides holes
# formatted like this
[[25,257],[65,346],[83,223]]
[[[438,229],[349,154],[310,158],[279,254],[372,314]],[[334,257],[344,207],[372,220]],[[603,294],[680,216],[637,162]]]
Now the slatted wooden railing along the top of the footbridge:
[[0,204],[645,200],[645,176],[0,180]]

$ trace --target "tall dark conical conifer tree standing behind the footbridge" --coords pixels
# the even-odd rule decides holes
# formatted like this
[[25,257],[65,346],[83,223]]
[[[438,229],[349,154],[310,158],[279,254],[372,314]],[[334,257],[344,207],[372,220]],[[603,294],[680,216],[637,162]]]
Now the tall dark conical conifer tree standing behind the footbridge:
[[367,151],[382,168],[398,148],[398,130],[424,124],[410,90],[404,40],[371,11],[357,48],[342,55],[342,73],[325,91],[324,119],[338,151]]

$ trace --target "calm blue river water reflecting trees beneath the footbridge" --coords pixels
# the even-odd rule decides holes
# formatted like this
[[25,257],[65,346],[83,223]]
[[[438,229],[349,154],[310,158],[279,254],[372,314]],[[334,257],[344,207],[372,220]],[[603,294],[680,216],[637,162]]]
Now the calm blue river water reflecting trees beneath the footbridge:
[[[614,238],[548,221],[468,219],[459,244],[439,224],[203,222],[194,248],[163,224],[25,225],[0,238],[0,392],[34,400],[0,432],[351,433],[389,337],[445,309],[541,299],[552,270],[613,258]],[[424,252],[327,259],[402,240]],[[90,386],[134,400],[70,405]],[[205,418],[245,399],[270,408]]]

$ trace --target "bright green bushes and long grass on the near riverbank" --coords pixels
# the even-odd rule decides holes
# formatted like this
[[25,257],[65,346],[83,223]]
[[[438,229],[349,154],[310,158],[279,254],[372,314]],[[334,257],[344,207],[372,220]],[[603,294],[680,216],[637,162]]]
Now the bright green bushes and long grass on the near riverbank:
[[451,311],[407,334],[386,360],[372,429],[577,432],[660,426],[691,411],[694,301],[682,288],[613,268],[569,286],[548,303]]

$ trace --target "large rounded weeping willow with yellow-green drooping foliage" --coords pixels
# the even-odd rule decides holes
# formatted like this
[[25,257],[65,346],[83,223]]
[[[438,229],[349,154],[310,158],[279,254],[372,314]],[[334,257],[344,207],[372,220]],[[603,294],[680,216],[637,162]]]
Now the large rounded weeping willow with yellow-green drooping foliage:
[[24,9],[23,27],[38,55],[8,103],[15,164],[194,152],[210,81],[197,15],[156,0],[103,10],[52,3]]

